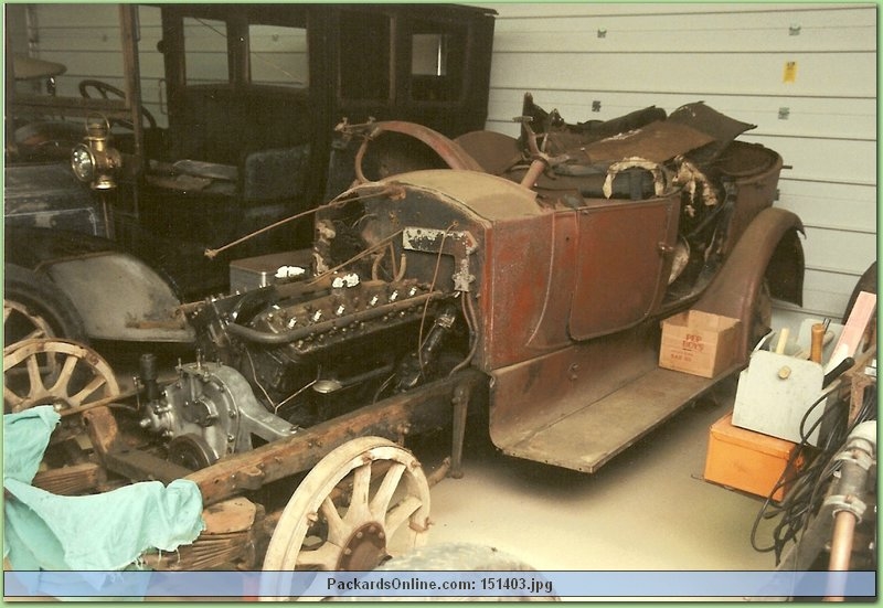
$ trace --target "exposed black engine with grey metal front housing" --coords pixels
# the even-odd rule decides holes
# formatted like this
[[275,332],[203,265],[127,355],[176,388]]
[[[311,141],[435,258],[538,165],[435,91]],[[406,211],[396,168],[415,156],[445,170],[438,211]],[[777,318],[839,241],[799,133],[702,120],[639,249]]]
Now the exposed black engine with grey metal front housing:
[[[345,222],[327,223],[341,241],[372,250]],[[319,241],[317,266],[349,255],[332,243]],[[382,248],[345,273],[194,305],[199,361],[152,391],[142,428],[161,435],[170,460],[198,469],[451,371],[469,344],[459,292],[450,279],[439,289],[405,277],[393,256]]]

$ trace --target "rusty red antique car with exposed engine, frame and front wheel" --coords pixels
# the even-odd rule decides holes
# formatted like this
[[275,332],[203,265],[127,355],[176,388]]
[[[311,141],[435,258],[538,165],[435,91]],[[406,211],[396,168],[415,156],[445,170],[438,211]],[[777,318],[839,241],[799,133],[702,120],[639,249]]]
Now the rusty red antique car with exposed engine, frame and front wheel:
[[[483,419],[508,455],[594,472],[745,365],[769,296],[799,303],[802,227],[773,206],[780,157],[736,140],[751,125],[703,104],[566,124],[530,96],[520,120],[521,139],[341,124],[357,179],[315,210],[304,271],[267,255],[268,285],[183,306],[199,355],[170,382],[145,358],[130,407],[57,399],[55,446],[87,449],[35,481],[183,477],[238,522],[157,567],[371,568],[394,529],[426,532],[428,482],[389,450],[447,429],[458,474]],[[390,134],[448,168],[372,174]],[[658,365],[685,310],[741,321],[713,377]]]

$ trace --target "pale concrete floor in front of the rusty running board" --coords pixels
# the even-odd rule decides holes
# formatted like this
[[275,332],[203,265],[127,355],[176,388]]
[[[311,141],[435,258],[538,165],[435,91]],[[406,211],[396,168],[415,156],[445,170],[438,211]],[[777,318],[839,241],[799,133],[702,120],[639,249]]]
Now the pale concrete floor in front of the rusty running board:
[[549,570],[772,569],[749,540],[763,500],[702,479],[709,426],[730,409],[685,409],[594,476],[472,441],[465,477],[432,490],[429,544],[492,545]]

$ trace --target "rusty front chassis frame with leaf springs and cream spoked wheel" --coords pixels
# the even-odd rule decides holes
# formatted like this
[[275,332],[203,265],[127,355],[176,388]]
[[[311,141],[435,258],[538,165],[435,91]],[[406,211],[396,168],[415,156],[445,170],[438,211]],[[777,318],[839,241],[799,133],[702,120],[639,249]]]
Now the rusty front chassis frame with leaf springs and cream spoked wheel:
[[[155,569],[372,569],[393,552],[422,545],[428,532],[429,481],[421,463],[400,444],[411,434],[453,424],[454,458],[442,462],[430,477],[437,481],[446,473],[458,474],[467,405],[482,397],[482,385],[480,373],[465,370],[198,471],[169,462],[155,450],[140,449],[132,429],[121,428],[111,410],[125,399],[96,402],[61,410],[62,424],[47,452],[63,450],[70,461],[77,451],[72,444],[84,444],[76,437],[87,436],[93,456],[83,452],[73,458],[73,465],[43,470],[33,483],[71,494],[108,490],[129,481],[193,481],[203,499],[205,530],[174,553],[143,555],[145,564]],[[365,498],[358,502],[359,473],[350,474],[355,470],[362,470],[365,483],[372,486],[370,501],[365,487],[361,490]],[[301,479],[307,471],[309,477]],[[374,488],[377,478],[381,488]],[[285,486],[283,497],[295,488],[297,491],[287,505],[277,502],[275,510],[265,511],[254,495],[275,482]],[[400,495],[400,487],[405,488],[404,495]],[[301,547],[317,522],[317,512],[325,522],[338,503],[342,504],[339,526],[349,534],[342,541],[326,538],[322,544],[334,547],[331,554],[320,551],[321,546]],[[359,514],[354,504],[370,509]]]

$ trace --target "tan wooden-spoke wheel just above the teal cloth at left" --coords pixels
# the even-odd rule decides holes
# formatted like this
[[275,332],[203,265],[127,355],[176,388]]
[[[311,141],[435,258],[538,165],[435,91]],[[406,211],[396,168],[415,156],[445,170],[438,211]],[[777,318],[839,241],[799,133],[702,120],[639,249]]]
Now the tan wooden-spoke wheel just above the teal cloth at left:
[[57,410],[119,395],[114,371],[95,351],[57,339],[18,342],[3,350],[3,410],[38,405]]

